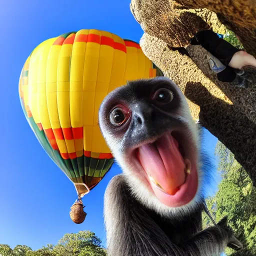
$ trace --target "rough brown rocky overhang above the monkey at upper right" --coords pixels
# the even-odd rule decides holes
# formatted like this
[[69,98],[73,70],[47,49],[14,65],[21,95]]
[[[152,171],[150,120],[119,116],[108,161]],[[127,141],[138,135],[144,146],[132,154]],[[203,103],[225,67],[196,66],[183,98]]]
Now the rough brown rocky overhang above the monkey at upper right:
[[[248,88],[222,83],[209,68],[209,53],[189,41],[209,27],[223,32],[225,24],[245,50],[256,55],[256,1],[131,0],[130,8],[145,31],[140,40],[143,52],[181,88],[193,117],[234,153],[255,186],[255,69],[247,68],[253,80]],[[186,47],[187,52],[173,47]]]

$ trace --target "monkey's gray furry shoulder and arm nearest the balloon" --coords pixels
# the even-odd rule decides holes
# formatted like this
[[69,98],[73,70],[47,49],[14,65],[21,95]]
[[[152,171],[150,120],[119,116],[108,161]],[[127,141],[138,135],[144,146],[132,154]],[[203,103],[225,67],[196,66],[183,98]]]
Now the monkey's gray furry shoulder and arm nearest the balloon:
[[109,256],[183,255],[133,198],[122,174],[106,188],[104,219]]

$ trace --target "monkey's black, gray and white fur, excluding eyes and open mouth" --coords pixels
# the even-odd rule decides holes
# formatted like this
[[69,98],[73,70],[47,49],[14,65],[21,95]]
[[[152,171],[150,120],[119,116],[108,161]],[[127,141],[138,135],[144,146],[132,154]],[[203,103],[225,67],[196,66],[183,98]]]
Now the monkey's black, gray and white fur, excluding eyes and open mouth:
[[[157,84],[170,85],[176,103],[166,114],[159,108],[150,110],[146,90]],[[167,85],[166,85],[167,84]],[[135,126],[135,120],[127,128],[114,128],[108,114],[115,102],[124,102],[132,108],[144,107],[143,114],[151,126]],[[148,107],[147,105],[148,104]],[[133,108],[136,109],[136,108]],[[136,112],[134,110],[133,112]],[[163,113],[164,112],[164,113]],[[132,113],[133,114],[133,113]],[[149,117],[148,117],[149,116]],[[156,116],[156,117],[155,117]],[[133,116],[131,117],[133,118]],[[153,117],[152,117],[153,118]],[[203,177],[200,161],[199,130],[193,121],[186,99],[180,89],[167,78],[154,78],[130,82],[109,93],[99,109],[99,126],[115,159],[123,170],[109,182],[104,195],[104,220],[109,256],[217,256],[233,237],[226,219],[218,225],[202,229]],[[134,128],[135,127],[135,128]],[[141,179],[141,169],[130,158],[130,150],[140,143],[150,142],[152,137],[169,128],[182,130],[189,138],[186,148],[193,156],[198,173],[198,189],[186,205],[168,207],[162,204]],[[192,156],[191,156],[192,157]],[[206,159],[207,161],[207,159]],[[207,175],[206,175],[207,176]]]

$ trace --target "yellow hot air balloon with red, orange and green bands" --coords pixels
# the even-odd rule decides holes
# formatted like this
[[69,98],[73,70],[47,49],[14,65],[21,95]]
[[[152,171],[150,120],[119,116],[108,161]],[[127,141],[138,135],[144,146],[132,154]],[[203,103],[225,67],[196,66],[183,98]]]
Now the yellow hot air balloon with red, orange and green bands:
[[83,206],[81,197],[113,164],[98,126],[101,101],[127,80],[154,76],[156,68],[138,43],[96,29],[47,39],[25,61],[19,78],[23,112],[44,150],[74,183],[74,205]]

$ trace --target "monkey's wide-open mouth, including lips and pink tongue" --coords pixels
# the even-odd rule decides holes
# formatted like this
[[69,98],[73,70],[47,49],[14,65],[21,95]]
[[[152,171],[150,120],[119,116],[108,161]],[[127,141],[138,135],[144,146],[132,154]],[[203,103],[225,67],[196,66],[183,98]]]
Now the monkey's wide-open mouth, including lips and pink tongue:
[[184,205],[196,194],[196,165],[187,151],[178,132],[166,132],[134,151],[155,195],[168,206]]

